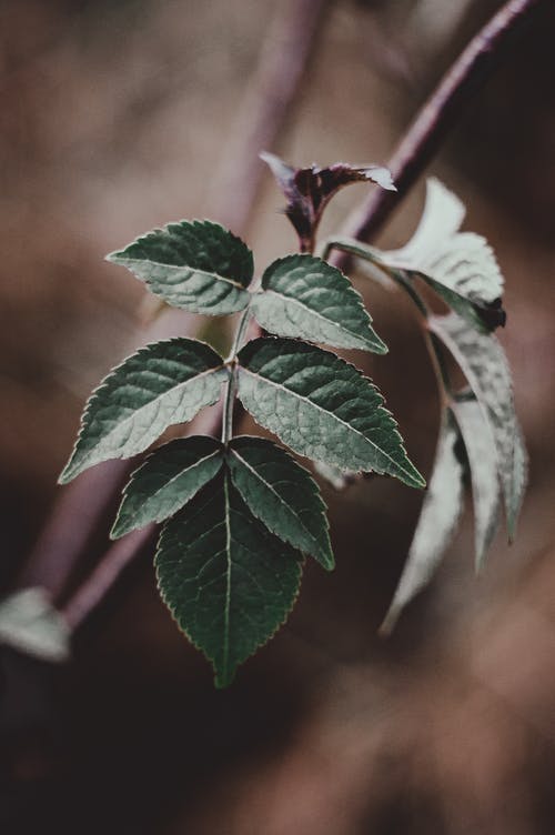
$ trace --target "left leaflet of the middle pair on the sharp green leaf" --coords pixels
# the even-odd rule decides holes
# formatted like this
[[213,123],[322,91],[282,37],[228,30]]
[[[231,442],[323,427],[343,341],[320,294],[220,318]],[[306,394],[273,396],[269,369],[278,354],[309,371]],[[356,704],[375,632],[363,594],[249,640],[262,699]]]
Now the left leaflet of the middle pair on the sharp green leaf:
[[203,342],[172,339],[141,348],[90,396],[60,483],[100,461],[142,452],[168,426],[215,403],[226,378],[222,358]]

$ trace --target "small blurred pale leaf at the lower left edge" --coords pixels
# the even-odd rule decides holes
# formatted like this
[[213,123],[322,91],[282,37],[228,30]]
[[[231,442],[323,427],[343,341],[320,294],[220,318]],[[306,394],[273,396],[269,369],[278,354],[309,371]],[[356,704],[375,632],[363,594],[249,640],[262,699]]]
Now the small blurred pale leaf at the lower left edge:
[[42,661],[70,654],[70,628],[43,588],[24,588],[0,602],[0,643]]

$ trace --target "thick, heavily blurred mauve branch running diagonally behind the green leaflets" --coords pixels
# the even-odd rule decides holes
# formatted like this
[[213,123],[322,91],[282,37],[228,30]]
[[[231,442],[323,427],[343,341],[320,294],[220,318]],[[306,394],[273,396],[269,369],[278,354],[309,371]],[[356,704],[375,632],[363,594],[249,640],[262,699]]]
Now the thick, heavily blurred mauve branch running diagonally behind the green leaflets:
[[[287,0],[278,6],[215,179],[220,199],[214,203],[214,214],[236,233],[246,227],[264,173],[259,152],[273,145],[284,123],[326,6],[326,0]],[[152,339],[151,331],[153,328],[145,330],[144,342]],[[164,339],[160,324],[155,326],[155,339]],[[60,597],[133,466],[132,461],[105,462],[63,490],[21,571],[19,587],[40,585],[54,600]],[[105,559],[115,554],[121,571],[124,553],[129,561],[133,549],[117,543]],[[91,582],[107,576],[108,573],[94,572]]]

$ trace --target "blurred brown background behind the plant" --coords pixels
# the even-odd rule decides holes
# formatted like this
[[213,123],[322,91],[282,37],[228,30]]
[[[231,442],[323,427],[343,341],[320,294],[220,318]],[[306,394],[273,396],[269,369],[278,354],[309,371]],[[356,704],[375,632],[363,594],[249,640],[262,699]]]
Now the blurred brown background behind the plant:
[[[104,254],[194,217],[244,235],[259,269],[293,251],[263,148],[250,147],[260,108],[283,107],[260,135],[294,164],[385,163],[498,6],[314,3],[290,95],[266,89],[260,68],[303,48],[283,40],[292,0],[0,0],[0,591],[40,574],[29,555],[62,493],[83,402],[152,333],[143,285]],[[337,569],[306,566],[291,620],[225,692],[161,604],[147,550],[78,631],[70,663],[3,652],[6,835],[554,832],[555,9],[545,6],[427,172],[466,203],[465,228],[490,240],[506,279],[501,340],[531,453],[516,543],[500,535],[476,580],[468,506],[438,575],[384,641],[376,630],[421,496],[377,479],[324,487]],[[324,233],[365,189],[333,201]],[[379,243],[408,238],[423,194],[424,178]],[[428,473],[438,403],[415,319],[402,299],[357,286],[390,354],[356,362]],[[83,517],[93,501],[82,495]],[[98,562],[107,530],[60,600]]]

